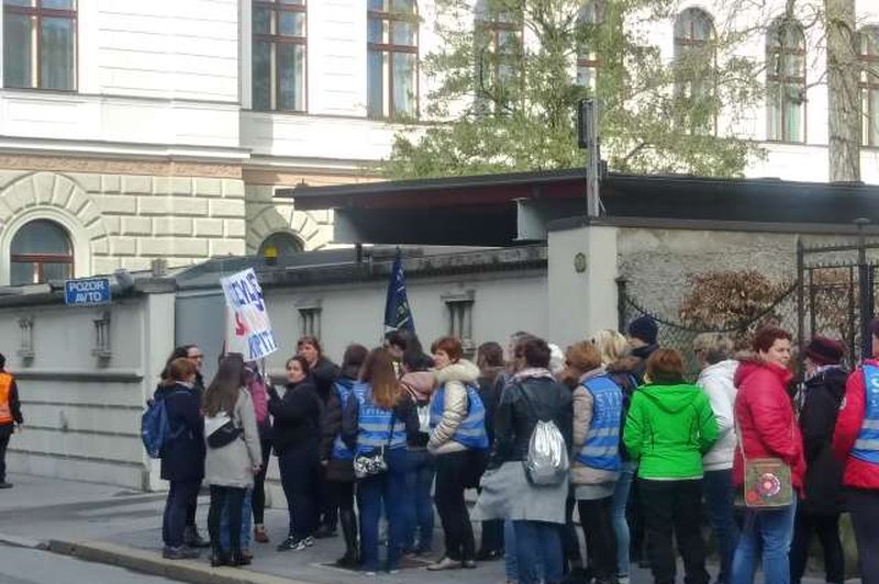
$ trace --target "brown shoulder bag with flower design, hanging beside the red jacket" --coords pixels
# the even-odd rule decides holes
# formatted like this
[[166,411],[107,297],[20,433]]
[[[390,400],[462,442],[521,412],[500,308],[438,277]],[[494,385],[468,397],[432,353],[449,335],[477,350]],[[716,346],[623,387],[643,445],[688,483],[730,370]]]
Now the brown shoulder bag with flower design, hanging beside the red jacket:
[[[745,446],[742,431],[736,422],[738,434],[738,448],[742,451],[742,462],[745,471],[743,483],[743,497],[745,506],[754,510],[772,510],[787,507],[793,503],[793,483],[791,481],[790,464],[780,458],[745,457]],[[791,437],[793,428],[791,427]]]

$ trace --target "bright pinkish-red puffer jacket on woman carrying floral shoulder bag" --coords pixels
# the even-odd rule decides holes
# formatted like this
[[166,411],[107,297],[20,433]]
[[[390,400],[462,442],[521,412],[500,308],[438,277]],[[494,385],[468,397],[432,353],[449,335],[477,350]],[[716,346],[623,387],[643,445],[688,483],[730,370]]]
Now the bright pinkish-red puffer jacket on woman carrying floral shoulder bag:
[[733,460],[733,483],[745,481],[742,449],[749,459],[780,458],[791,467],[791,483],[802,492],[805,476],[803,439],[793,417],[787,386],[793,374],[781,366],[748,356],[735,373],[735,419],[741,448]]

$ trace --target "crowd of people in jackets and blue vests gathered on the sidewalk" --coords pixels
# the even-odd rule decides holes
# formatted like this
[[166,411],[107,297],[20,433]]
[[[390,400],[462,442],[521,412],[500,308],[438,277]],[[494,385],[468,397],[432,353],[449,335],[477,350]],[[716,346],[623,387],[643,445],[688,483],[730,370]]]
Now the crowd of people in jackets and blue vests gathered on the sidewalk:
[[[812,338],[801,348],[802,383],[791,335],[775,326],[746,352],[723,335],[700,335],[690,383],[687,359],[657,344],[648,316],[626,335],[599,330],[564,351],[516,333],[505,350],[481,345],[476,362],[460,339],[425,351],[400,330],[371,350],[348,346],[338,367],[319,339],[302,337],[281,390],[234,353],[205,388],[203,355],[181,347],[156,391],[171,429],[162,449],[164,555],[210,547],[213,565],[249,563],[252,539],[269,541],[274,452],[289,509],[277,550],[303,550],[341,526],[336,563],[366,574],[432,554],[435,509],[444,541],[431,571],[503,559],[510,583],[608,584],[628,582],[634,561],[670,584],[677,544],[685,581],[709,584],[706,518],[716,582],[752,583],[759,565],[766,582],[797,584],[816,535],[826,582],[836,584],[845,574],[839,517],[849,510],[861,581],[876,584],[879,321],[871,333],[874,358],[852,371],[841,342]],[[764,470],[752,491],[755,469]],[[202,481],[209,542],[194,521]],[[761,506],[764,495],[780,503]]]

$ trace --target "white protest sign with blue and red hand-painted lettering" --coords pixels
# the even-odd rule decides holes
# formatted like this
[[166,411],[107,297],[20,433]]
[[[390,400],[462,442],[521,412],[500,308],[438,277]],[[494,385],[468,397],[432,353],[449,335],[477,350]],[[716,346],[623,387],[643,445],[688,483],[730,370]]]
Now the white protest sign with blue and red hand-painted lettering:
[[226,352],[256,361],[278,350],[253,268],[220,280],[226,296]]

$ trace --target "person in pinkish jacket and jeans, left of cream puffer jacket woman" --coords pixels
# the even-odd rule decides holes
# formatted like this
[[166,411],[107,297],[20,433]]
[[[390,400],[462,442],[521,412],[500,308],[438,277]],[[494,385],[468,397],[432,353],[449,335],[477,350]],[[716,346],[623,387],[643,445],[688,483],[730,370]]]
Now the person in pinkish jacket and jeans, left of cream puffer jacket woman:
[[431,492],[436,469],[433,456],[427,452],[427,442],[431,439],[431,395],[436,378],[430,371],[433,359],[421,352],[420,348],[407,349],[402,364],[400,384],[409,392],[419,412],[419,431],[408,436],[403,552],[424,555],[433,549],[434,513]]

